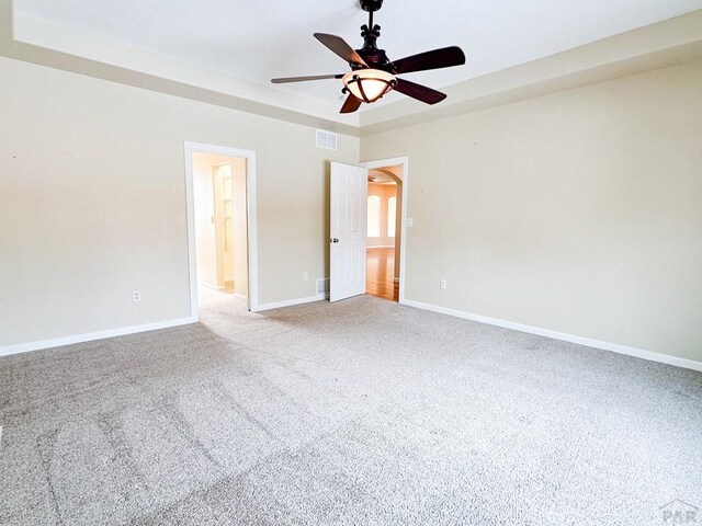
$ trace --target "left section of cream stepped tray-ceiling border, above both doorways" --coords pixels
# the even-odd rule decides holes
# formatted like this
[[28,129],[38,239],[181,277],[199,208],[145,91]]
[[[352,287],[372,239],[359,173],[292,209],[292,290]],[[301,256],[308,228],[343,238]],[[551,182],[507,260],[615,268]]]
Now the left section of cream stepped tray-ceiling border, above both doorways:
[[145,49],[80,33],[0,0],[0,55],[233,110],[359,136],[358,115],[336,105],[181,64]]

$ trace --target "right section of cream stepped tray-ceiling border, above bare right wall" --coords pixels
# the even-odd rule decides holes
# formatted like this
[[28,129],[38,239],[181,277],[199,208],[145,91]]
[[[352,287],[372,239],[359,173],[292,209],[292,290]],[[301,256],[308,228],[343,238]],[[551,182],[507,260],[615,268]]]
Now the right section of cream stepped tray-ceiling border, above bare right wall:
[[444,89],[426,107],[400,101],[361,113],[362,136],[581,88],[702,58],[702,10]]

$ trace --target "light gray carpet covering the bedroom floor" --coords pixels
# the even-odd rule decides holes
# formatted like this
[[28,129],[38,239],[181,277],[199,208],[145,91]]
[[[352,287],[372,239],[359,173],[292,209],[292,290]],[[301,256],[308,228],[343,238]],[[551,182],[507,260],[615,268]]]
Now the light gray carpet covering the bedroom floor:
[[0,524],[639,526],[673,499],[702,508],[699,373],[370,297],[204,304],[195,325],[0,358]]

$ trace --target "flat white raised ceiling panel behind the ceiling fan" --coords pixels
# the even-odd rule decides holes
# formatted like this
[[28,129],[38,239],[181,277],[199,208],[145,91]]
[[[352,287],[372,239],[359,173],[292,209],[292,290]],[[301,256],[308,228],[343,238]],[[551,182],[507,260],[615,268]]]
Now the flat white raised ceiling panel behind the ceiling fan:
[[[702,0],[385,0],[375,22],[390,59],[463,48],[466,66],[406,76],[441,89],[697,9]],[[356,0],[15,0],[15,10],[269,87],[273,77],[344,72],[312,34],[337,34],[358,48],[367,23]],[[335,80],[276,88],[342,100]]]

